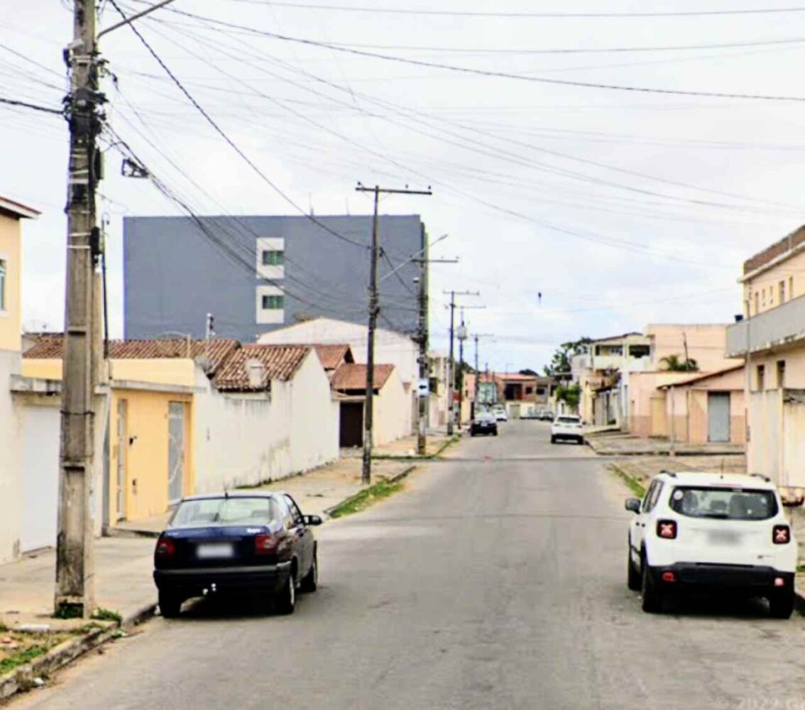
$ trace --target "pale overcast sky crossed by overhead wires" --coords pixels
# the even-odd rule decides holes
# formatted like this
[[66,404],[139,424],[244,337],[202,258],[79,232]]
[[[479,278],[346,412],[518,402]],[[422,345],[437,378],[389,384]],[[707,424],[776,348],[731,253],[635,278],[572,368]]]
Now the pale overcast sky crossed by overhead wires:
[[[118,15],[101,5],[104,27]],[[127,13],[144,6],[120,5]],[[433,196],[389,197],[382,209],[421,214],[431,240],[449,234],[432,256],[460,258],[431,268],[432,345],[445,347],[443,291],[481,291],[461,299],[485,307],[466,313],[470,332],[495,336],[482,341],[481,364],[519,369],[541,367],[555,345],[579,336],[732,320],[743,259],[805,221],[805,39],[795,29],[805,12],[679,14],[775,6],[785,7],[175,0],[174,10],[242,29],[167,8],[137,26],[303,210],[369,213],[358,180],[430,185]],[[68,0],[15,2],[0,16],[0,96],[60,105],[71,34]],[[104,80],[109,125],[196,213],[297,213],[128,28],[106,35],[101,52],[117,79]],[[66,126],[7,106],[0,126],[0,194],[43,212],[24,226],[24,320],[60,329]],[[109,217],[114,335],[122,332],[122,216],[182,213],[149,181],[122,178],[120,160],[107,152],[99,201]]]

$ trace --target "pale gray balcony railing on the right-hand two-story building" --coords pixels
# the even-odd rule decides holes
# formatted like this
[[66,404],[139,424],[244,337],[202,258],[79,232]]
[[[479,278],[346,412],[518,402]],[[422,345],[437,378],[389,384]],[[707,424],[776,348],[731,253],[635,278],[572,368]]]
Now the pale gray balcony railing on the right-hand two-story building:
[[791,299],[782,306],[741,320],[727,328],[727,357],[788,345],[805,340],[805,296]]

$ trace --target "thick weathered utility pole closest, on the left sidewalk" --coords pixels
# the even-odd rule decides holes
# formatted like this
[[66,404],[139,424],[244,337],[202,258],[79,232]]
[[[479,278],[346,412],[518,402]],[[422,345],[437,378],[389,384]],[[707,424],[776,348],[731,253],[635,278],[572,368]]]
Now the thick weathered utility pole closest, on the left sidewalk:
[[[67,197],[67,287],[61,404],[59,519],[56,537],[56,612],[89,617],[94,606],[93,483],[95,406],[100,328],[95,266],[101,254],[95,191],[100,179],[96,138],[101,128],[95,49],[95,0],[74,0],[73,41],[66,60],[70,93]],[[97,341],[97,342],[96,342]]]

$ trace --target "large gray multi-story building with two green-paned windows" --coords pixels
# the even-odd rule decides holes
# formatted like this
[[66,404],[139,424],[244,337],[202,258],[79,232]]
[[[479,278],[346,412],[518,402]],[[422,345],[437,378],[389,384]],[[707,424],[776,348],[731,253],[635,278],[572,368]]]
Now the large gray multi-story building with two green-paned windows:
[[[413,334],[421,267],[407,260],[424,225],[383,215],[379,235],[378,326]],[[208,313],[218,336],[244,342],[316,316],[365,323],[371,237],[370,215],[124,217],[125,336],[202,337]]]

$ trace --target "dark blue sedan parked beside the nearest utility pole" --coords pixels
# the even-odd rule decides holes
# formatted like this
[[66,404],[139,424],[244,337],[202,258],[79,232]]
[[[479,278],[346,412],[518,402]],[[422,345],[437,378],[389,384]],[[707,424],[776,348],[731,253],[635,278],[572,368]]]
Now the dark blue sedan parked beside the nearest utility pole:
[[265,593],[291,614],[297,589],[318,585],[317,515],[303,515],[287,493],[218,493],[184,498],[154,551],[163,617],[204,593]]

